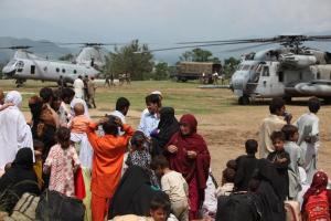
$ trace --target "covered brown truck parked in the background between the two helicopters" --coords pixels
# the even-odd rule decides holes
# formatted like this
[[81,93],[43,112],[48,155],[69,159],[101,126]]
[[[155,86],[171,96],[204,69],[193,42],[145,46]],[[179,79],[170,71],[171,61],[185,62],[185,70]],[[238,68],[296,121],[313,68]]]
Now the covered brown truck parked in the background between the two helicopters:
[[213,83],[213,73],[220,74],[221,70],[222,65],[213,62],[180,62],[174,76],[179,82],[200,80],[204,83]]

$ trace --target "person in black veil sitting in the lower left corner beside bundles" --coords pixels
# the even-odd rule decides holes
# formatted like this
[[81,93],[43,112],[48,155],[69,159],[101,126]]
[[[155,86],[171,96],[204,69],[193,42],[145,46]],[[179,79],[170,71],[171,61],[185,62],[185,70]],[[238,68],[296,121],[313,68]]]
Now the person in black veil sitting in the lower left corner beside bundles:
[[18,151],[14,161],[0,179],[0,204],[11,213],[24,192],[40,194],[33,170],[33,152],[30,148]]

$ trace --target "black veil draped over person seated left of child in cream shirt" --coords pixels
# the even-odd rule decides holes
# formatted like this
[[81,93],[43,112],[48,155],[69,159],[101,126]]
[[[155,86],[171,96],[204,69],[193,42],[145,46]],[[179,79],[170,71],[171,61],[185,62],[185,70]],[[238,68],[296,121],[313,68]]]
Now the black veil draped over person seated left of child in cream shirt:
[[131,166],[120,180],[109,207],[108,218],[116,215],[149,215],[150,201],[159,191],[151,188],[146,170]]

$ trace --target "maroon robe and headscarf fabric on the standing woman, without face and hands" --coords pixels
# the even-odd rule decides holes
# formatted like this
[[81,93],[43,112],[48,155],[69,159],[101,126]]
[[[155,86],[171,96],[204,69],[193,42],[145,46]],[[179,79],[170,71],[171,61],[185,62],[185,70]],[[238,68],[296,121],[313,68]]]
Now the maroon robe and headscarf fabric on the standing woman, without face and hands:
[[[166,152],[166,155],[169,159],[170,168],[181,172],[189,185],[193,179],[196,179],[193,186],[190,185],[192,186],[190,191],[192,192],[192,188],[195,188],[194,192],[196,192],[197,197],[193,197],[192,192],[189,198],[194,201],[197,199],[196,207],[199,207],[204,199],[203,193],[209,178],[211,156],[204,139],[196,134],[197,122],[195,117],[190,114],[183,115],[180,124],[188,125],[191,133],[189,135],[182,135],[181,131],[174,134],[166,147],[174,145],[178,147],[178,151],[174,154]],[[196,151],[196,158],[189,159],[188,150]]]

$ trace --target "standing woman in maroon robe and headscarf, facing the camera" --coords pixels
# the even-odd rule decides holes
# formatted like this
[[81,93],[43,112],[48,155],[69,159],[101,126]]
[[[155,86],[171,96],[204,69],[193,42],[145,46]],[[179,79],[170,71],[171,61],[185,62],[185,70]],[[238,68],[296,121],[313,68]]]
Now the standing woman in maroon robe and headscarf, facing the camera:
[[180,131],[171,137],[164,151],[170,168],[181,172],[189,183],[190,220],[197,219],[211,161],[207,146],[202,136],[196,134],[196,127],[197,122],[193,115],[183,115]]

